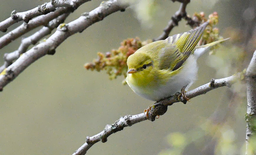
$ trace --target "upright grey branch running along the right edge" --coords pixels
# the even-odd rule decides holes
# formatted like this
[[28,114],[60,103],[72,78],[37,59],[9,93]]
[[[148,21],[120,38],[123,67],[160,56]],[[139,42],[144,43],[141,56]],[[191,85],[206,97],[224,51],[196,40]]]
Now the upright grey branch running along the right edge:
[[[246,70],[246,86],[247,86],[247,114],[246,120],[246,154],[251,153],[251,149],[255,146],[250,144],[250,138],[256,136],[256,51],[252,56],[252,60]],[[255,151],[255,150],[254,150]]]

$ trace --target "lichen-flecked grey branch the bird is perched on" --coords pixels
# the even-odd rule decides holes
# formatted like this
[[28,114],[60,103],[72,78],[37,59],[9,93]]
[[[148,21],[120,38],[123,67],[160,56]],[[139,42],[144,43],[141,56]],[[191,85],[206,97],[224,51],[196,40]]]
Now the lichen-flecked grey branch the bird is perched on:
[[[238,77],[240,77],[241,73],[238,73],[236,75],[232,75],[227,78],[222,79],[212,79],[209,83],[202,85],[196,89],[190,90],[185,93],[186,97],[193,98],[201,94],[205,94],[209,92],[212,89],[222,87],[222,86],[228,86],[231,87],[231,85],[238,81]],[[154,121],[155,116],[157,115],[163,115],[167,111],[167,106],[172,105],[175,102],[179,102],[177,98],[177,94],[168,97],[162,101],[159,101],[155,103],[152,108],[149,111],[150,120]],[[184,99],[182,99],[184,100]],[[102,141],[103,143],[107,141],[107,137],[111,134],[123,130],[124,127],[131,126],[135,123],[141,122],[143,120],[147,120],[145,113],[140,113],[138,115],[127,115],[124,117],[121,117],[118,121],[116,121],[114,124],[106,125],[104,130],[97,135],[94,135],[92,137],[86,137],[86,143],[84,143],[79,149],[77,149],[73,155],[83,155],[86,154],[86,151],[93,146],[93,144]]]

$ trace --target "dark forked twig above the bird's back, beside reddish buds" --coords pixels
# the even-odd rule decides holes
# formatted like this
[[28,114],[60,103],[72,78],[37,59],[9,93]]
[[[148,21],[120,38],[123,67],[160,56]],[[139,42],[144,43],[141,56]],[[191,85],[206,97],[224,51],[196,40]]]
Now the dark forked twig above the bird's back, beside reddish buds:
[[158,41],[158,40],[164,40],[166,39],[173,27],[178,26],[179,21],[184,18],[185,20],[188,21],[188,25],[191,27],[199,26],[200,23],[193,21],[192,18],[187,16],[186,13],[186,6],[190,2],[190,0],[172,0],[173,2],[179,1],[180,8],[179,10],[172,16],[171,20],[168,22],[168,25],[164,28],[163,33],[158,37],[153,39],[153,41]]

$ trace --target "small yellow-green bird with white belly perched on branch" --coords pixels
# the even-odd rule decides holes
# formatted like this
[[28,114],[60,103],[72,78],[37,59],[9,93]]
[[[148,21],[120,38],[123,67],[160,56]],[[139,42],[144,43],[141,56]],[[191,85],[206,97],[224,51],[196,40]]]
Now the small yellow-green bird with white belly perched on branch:
[[126,82],[138,95],[153,101],[185,90],[197,78],[197,59],[222,39],[196,46],[207,22],[200,27],[147,44],[127,59]]

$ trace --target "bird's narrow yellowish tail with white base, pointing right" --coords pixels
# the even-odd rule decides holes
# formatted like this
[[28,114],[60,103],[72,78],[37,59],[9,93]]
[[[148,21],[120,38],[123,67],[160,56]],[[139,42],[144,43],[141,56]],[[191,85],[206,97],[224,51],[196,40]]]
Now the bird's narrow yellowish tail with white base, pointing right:
[[[227,39],[229,39],[229,38],[227,38]],[[218,43],[220,43],[220,42],[223,42],[223,41],[225,41],[225,40],[227,40],[227,39],[221,39],[221,40],[218,40],[218,41],[216,41],[216,42],[212,42],[212,43],[209,43],[209,44],[206,44],[206,45],[202,45],[202,46],[197,46],[197,47],[195,47],[195,52],[194,52],[195,58],[199,58],[199,57],[200,57],[201,55],[203,55],[205,52],[212,50],[213,47],[214,47],[216,44],[218,44]]]

